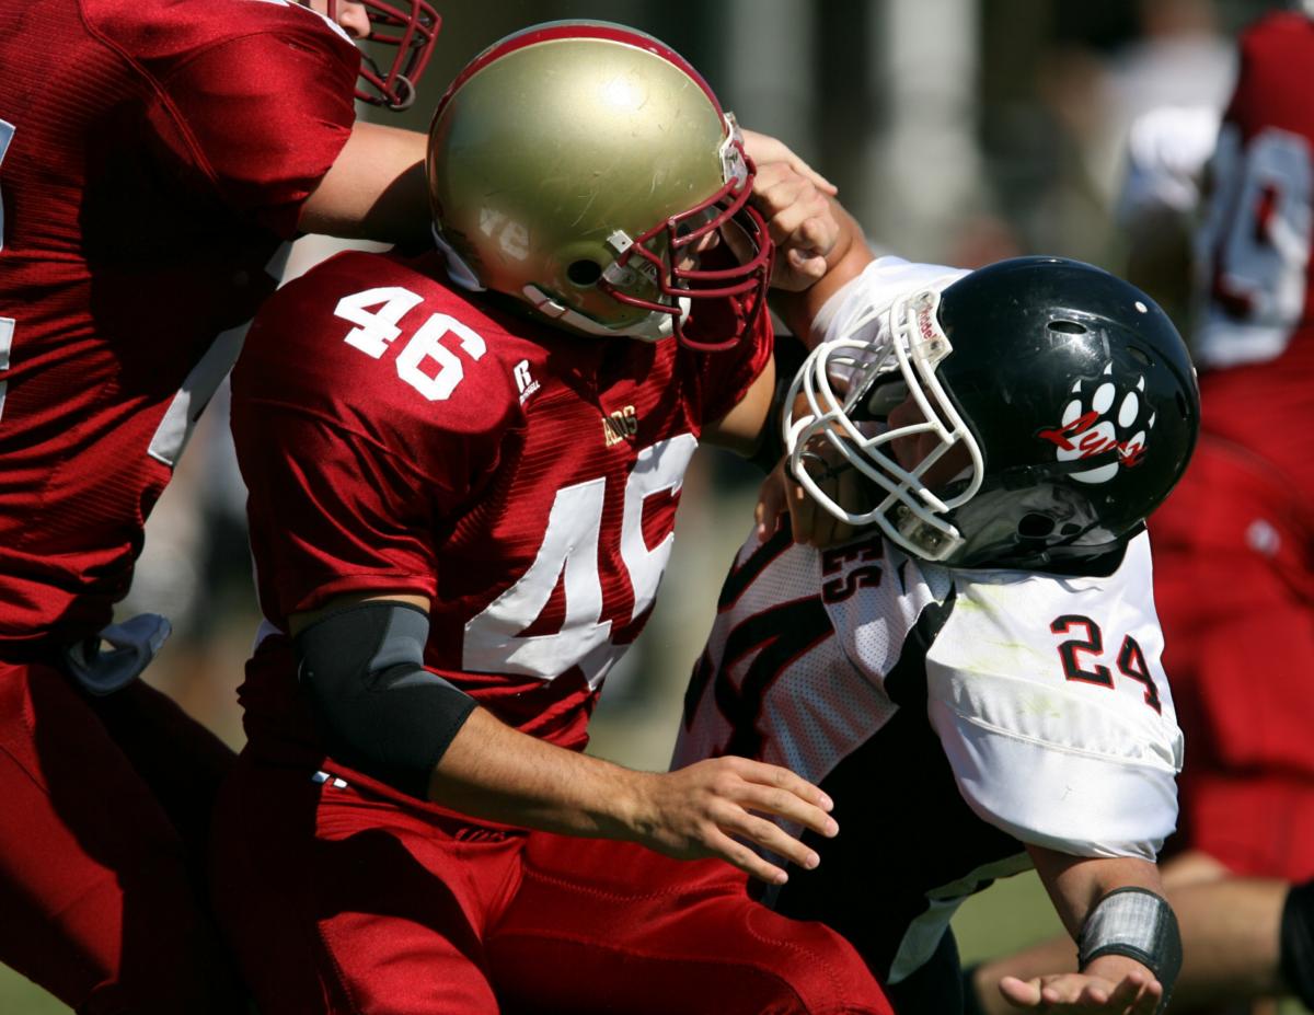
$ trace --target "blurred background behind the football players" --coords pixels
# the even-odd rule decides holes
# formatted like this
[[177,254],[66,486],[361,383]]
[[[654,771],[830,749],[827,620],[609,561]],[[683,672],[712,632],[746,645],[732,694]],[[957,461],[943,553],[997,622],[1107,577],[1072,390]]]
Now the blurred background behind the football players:
[[[1156,288],[1144,224],[1126,214],[1131,125],[1176,106],[1217,117],[1236,32],[1263,0],[436,0],[438,50],[414,108],[367,120],[424,130],[456,72],[485,46],[556,18],[649,32],[690,59],[740,122],[775,134],[840,187],[874,247],[975,268],[1018,254],[1100,264],[1159,298],[1185,331],[1181,271]],[[1156,222],[1155,264],[1189,256],[1193,200]],[[1142,234],[1138,235],[1138,230]],[[344,245],[305,239],[288,277]],[[681,697],[748,535],[761,475],[703,448],[685,483],[671,556],[646,631],[610,676],[594,753],[665,769]],[[214,400],[147,526],[120,617],[163,613],[173,636],[147,672],[234,748],[237,686],[259,623],[244,497]],[[853,805],[849,805],[853,806]],[[842,815],[840,815],[842,819]],[[1034,876],[972,899],[955,919],[964,961],[1059,930]],[[67,1011],[0,966],[0,1012]],[[1298,1006],[1285,1012],[1303,1011]]]

